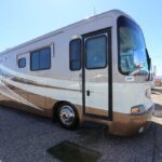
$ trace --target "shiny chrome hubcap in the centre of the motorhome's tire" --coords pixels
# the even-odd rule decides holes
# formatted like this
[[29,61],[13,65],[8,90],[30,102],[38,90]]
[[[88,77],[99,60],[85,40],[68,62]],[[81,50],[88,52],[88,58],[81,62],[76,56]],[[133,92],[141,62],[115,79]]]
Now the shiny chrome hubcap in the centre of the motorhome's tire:
[[71,125],[75,121],[75,111],[70,106],[60,108],[60,120],[65,125]]

